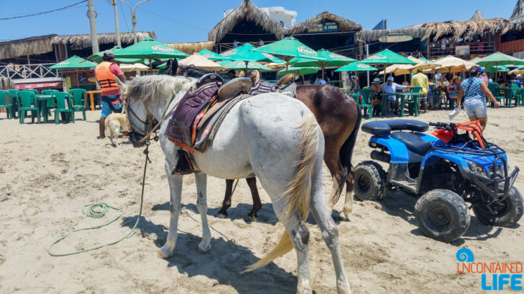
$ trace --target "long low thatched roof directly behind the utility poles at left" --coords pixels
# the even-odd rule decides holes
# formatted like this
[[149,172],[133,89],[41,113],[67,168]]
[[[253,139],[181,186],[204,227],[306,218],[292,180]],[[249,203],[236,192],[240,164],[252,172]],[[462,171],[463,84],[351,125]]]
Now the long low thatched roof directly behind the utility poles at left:
[[[117,44],[116,33],[97,33],[99,44]],[[152,31],[137,31],[136,38],[138,41],[143,38],[156,38]],[[133,43],[133,33],[120,33],[120,40],[122,43],[131,44]],[[83,35],[64,35],[56,36],[52,40],[52,44],[68,44],[73,46],[91,46],[91,34],[86,33]]]

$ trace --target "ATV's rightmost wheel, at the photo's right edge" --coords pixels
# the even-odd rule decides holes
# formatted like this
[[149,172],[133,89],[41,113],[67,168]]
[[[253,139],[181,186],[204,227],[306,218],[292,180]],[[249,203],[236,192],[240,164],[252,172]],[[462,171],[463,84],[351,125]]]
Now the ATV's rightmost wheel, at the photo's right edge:
[[473,206],[476,218],[488,226],[514,226],[523,215],[522,195],[516,187],[509,190],[506,199],[491,205],[495,214],[486,206]]

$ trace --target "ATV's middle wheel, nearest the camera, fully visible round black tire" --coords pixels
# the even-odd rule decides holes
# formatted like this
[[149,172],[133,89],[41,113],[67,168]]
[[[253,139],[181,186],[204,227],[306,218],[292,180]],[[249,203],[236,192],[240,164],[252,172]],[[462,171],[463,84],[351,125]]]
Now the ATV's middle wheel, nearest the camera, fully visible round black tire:
[[470,226],[470,212],[462,197],[446,189],[423,194],[415,205],[415,219],[424,235],[442,242],[460,238]]

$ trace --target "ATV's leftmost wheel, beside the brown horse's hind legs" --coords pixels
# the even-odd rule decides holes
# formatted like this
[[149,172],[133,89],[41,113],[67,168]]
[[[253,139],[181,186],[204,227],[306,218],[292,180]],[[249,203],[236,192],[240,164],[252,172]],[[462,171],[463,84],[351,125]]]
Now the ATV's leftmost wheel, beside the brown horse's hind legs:
[[355,168],[353,191],[359,200],[381,200],[386,196],[386,172],[380,164],[371,160],[361,162]]

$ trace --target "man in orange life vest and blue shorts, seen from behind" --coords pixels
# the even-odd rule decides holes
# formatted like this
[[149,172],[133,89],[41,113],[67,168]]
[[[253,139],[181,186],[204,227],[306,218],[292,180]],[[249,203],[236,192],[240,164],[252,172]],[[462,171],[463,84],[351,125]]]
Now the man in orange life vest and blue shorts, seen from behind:
[[[115,76],[122,83],[126,82],[126,76],[124,76],[124,72],[118,67],[114,59],[115,54],[110,50],[105,50],[102,56],[103,61],[96,65],[94,69],[94,75],[102,91],[102,114],[99,122],[100,139],[105,138],[105,118],[112,112],[122,112],[122,99],[120,98],[120,90],[115,81]],[[127,132],[124,132],[124,136],[126,135]]]

